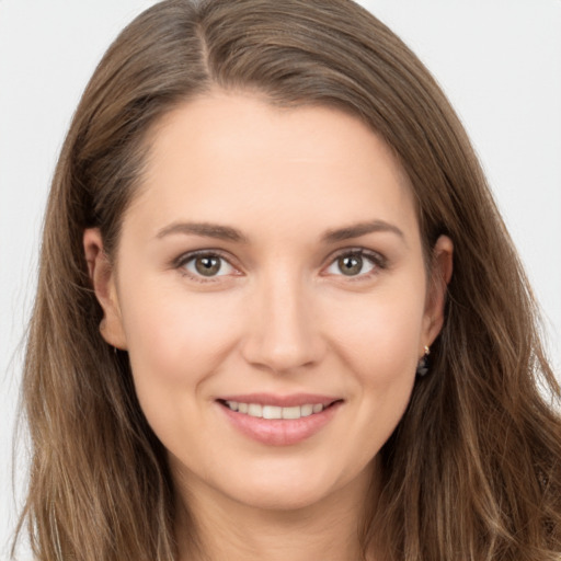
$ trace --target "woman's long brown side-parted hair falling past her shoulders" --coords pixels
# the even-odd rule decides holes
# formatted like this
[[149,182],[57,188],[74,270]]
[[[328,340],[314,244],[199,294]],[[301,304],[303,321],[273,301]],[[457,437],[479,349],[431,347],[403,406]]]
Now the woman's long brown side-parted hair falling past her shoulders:
[[170,561],[174,491],[126,353],[99,333],[82,250],[110,257],[149,133],[210,88],[323,104],[367,123],[411,179],[425,245],[454,240],[446,321],[380,451],[360,535],[388,560],[531,560],[561,553],[560,390],[530,288],[462,126],[419,59],[350,0],[165,0],[111,46],[53,181],[23,381],[32,437],[27,524],[39,561]]

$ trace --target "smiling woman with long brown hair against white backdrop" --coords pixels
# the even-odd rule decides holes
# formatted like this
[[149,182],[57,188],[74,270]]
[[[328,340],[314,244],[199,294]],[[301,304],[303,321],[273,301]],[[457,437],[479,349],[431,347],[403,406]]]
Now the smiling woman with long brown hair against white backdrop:
[[25,365],[37,559],[556,559],[535,305],[421,62],[348,1],[164,1],[95,71]]

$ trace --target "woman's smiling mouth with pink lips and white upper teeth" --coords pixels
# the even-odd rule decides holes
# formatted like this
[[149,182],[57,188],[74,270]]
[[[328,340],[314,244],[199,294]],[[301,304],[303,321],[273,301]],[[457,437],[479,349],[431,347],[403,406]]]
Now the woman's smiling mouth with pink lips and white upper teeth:
[[230,424],[244,436],[270,446],[290,446],[328,425],[343,400],[309,393],[252,393],[226,396],[217,403]]

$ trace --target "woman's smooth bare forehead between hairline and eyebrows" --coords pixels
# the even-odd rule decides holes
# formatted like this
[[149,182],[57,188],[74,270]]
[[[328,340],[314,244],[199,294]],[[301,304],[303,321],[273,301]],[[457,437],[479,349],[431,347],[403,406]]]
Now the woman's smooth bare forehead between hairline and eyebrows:
[[149,140],[129,213],[142,214],[148,228],[185,219],[241,220],[251,229],[259,214],[285,228],[287,220],[313,230],[391,219],[417,229],[409,180],[391,149],[333,107],[279,108],[215,92],[174,108]]

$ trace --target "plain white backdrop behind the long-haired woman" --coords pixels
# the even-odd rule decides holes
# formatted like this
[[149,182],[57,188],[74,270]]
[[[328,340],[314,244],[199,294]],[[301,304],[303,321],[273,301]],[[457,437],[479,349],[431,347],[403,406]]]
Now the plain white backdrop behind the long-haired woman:
[[[11,447],[20,342],[33,302],[49,181],[96,62],[119,30],[152,3],[0,0],[1,560],[9,558],[5,543],[25,480],[24,446],[13,481]],[[465,123],[545,310],[559,375],[561,0],[362,3],[428,66]]]

